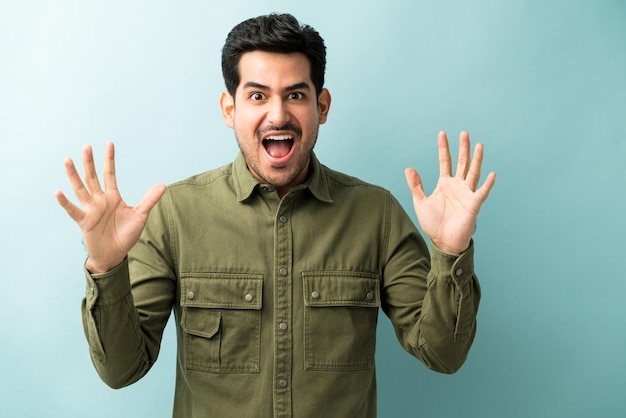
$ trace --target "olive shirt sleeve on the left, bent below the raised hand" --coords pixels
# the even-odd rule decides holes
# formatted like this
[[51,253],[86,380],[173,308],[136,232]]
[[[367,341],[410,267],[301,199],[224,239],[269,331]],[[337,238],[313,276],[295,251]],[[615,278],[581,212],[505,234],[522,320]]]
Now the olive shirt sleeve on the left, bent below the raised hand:
[[[154,251],[156,237],[162,236],[153,232],[162,231],[159,218],[151,213],[139,242],[115,269],[102,274],[85,269],[85,336],[96,371],[113,388],[136,382],[152,367],[171,314],[175,281],[163,268],[164,251]],[[137,253],[146,257],[145,263]]]

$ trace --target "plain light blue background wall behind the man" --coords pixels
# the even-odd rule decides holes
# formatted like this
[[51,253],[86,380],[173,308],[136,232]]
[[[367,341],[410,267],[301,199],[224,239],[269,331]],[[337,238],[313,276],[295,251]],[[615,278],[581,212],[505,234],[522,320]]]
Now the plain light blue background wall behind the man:
[[[626,3],[7,1],[0,3],[0,416],[167,417],[175,341],[119,391],[93,370],[85,254],[53,192],[62,161],[114,140],[123,196],[231,161],[220,49],[289,11],[328,46],[319,157],[392,190],[432,190],[436,135],[485,144],[483,300],[469,359],[428,371],[381,317],[379,416],[626,416]],[[412,212],[411,212],[412,213]]]

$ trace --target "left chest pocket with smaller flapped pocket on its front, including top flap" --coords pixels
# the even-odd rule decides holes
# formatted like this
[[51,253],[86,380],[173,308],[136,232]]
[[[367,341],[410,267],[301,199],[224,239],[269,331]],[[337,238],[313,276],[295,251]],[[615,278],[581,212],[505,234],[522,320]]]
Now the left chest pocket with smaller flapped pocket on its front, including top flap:
[[180,278],[185,367],[211,373],[257,373],[263,277],[190,273]]

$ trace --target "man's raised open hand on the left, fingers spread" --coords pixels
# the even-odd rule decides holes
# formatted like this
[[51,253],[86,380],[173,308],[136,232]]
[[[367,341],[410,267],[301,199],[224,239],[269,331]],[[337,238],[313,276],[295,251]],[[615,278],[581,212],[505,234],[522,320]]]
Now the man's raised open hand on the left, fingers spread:
[[63,192],[55,196],[59,204],[80,226],[89,257],[85,267],[91,273],[104,273],[118,266],[139,240],[150,210],[156,205],[166,187],[152,187],[137,206],[128,206],[120,196],[115,178],[115,150],[106,145],[104,154],[104,190],[100,186],[91,146],[83,150],[85,182],[81,180],[74,162],[64,161],[65,172],[82,209],[70,202]]

